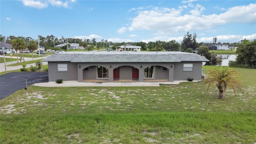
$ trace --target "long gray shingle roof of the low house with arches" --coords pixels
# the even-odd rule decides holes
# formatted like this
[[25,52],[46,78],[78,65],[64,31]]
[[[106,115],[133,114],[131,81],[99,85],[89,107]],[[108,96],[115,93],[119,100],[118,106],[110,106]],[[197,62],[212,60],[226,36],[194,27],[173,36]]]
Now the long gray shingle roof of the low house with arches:
[[206,58],[186,52],[65,52],[52,54],[44,62],[208,62]]

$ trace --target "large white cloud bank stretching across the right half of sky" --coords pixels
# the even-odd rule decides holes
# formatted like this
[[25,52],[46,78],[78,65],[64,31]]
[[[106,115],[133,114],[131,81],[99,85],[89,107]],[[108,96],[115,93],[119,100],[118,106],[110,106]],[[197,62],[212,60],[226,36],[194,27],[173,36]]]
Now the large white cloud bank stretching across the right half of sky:
[[178,9],[158,8],[138,11],[132,18],[132,30],[154,30],[159,34],[173,32],[187,32],[196,30],[210,30],[216,26],[231,23],[256,23],[256,4],[232,7],[221,14],[204,15],[205,8],[199,4],[191,10],[191,14],[181,15],[182,7]]

